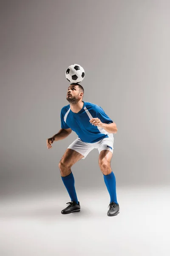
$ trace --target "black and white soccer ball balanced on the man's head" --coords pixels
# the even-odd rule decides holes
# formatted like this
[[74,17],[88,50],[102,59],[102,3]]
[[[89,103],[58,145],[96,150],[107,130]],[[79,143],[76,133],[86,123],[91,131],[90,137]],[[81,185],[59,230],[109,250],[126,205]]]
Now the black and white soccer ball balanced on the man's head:
[[85,77],[85,70],[79,64],[73,64],[65,71],[66,79],[71,83],[80,83]]

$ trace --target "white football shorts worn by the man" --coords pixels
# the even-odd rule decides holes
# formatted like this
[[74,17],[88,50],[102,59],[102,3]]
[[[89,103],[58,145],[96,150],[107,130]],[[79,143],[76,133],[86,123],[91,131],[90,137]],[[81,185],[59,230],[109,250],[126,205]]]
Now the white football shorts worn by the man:
[[68,148],[71,148],[80,154],[82,154],[84,157],[82,159],[85,159],[87,157],[88,153],[93,150],[94,148],[97,148],[99,151],[99,154],[102,150],[106,149],[113,153],[113,142],[114,137],[106,137],[102,140],[99,140],[95,143],[86,143],[80,140],[78,137],[74,142],[72,142]]

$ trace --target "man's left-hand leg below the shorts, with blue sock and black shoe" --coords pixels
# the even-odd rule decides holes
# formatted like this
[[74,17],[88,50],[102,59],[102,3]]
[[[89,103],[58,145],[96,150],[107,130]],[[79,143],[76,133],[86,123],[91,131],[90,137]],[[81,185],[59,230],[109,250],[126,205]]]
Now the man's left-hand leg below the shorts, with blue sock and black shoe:
[[71,198],[71,204],[68,205],[65,209],[62,210],[62,214],[71,213],[73,211],[80,210],[77,194],[74,186],[74,176],[71,172],[71,166],[74,165],[77,161],[83,158],[83,155],[77,151],[67,148],[65,154],[62,156],[62,159],[59,162],[60,174],[62,181],[68,191],[68,194]]

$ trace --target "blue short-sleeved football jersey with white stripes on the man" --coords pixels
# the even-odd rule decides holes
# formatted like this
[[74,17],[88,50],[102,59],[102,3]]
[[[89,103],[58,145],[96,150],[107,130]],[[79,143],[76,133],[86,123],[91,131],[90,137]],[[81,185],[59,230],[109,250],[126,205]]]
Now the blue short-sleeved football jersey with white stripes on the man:
[[95,143],[105,137],[113,137],[113,134],[89,122],[90,119],[98,117],[103,123],[113,123],[105,111],[91,102],[83,101],[83,103],[83,107],[78,113],[71,111],[70,104],[61,109],[61,128],[71,128],[86,143]]

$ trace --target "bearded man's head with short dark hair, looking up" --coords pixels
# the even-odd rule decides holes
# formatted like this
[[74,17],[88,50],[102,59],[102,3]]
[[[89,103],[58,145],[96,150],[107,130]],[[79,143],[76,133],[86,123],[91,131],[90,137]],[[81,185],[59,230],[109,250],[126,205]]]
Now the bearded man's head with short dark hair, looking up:
[[77,104],[77,102],[82,101],[83,95],[84,89],[80,84],[70,84],[66,99],[71,104]]

